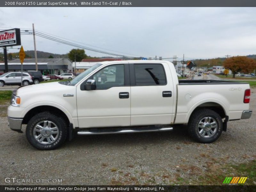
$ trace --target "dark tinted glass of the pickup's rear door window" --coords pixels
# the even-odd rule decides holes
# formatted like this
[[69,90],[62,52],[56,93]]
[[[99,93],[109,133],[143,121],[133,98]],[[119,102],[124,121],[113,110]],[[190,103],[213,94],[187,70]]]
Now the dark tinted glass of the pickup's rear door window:
[[161,64],[134,64],[136,85],[164,85],[166,77]]

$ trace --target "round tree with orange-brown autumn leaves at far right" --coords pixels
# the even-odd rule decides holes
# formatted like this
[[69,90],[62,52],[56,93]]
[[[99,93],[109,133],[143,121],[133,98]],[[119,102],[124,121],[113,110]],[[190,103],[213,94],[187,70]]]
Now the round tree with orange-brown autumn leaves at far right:
[[256,61],[246,56],[229,57],[223,62],[223,66],[230,69],[233,78],[238,72],[249,73],[256,68]]

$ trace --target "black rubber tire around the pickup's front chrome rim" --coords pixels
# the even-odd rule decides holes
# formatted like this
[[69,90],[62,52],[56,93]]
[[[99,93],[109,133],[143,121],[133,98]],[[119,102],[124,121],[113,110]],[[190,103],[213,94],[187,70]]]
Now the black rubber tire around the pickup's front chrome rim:
[[[38,141],[39,139],[36,140],[36,138],[34,136],[35,135],[34,130],[35,130],[37,124],[39,124],[42,121],[43,122],[52,122],[52,124],[56,125],[55,127],[57,127],[57,129],[59,131],[58,134],[55,135],[56,140],[52,141],[52,143],[50,143],[50,144],[42,143],[42,142],[47,142],[47,140],[48,140],[47,138],[45,138],[44,140],[42,140],[40,142],[40,141]],[[49,124],[47,124],[47,126],[49,126]],[[50,127],[51,127],[51,125],[50,125]],[[33,147],[40,149],[40,150],[52,150],[52,149],[60,147],[61,144],[66,140],[67,128],[68,128],[67,123],[65,122],[65,120],[62,117],[56,116],[49,112],[42,112],[42,113],[36,114],[29,120],[27,128],[26,128],[26,136],[27,136],[28,142]],[[44,132],[46,132],[46,131],[44,131]],[[40,133],[40,135],[41,135],[41,133]],[[43,131],[42,131],[42,135],[43,135]],[[41,137],[41,139],[42,138],[43,138],[43,136]]]

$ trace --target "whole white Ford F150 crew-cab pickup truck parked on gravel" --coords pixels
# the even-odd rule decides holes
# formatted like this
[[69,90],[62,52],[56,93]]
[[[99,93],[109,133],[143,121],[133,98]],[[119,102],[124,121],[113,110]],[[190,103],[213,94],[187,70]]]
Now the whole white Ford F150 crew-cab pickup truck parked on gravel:
[[12,94],[8,122],[37,149],[59,147],[74,134],[172,130],[188,124],[198,142],[211,143],[227,122],[251,117],[250,86],[214,80],[178,80],[163,60],[95,64],[72,81],[21,86]]

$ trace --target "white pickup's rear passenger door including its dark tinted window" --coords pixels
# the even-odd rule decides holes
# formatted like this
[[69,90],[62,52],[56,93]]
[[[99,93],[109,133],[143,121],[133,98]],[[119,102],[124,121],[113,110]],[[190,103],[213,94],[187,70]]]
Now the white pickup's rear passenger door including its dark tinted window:
[[171,124],[174,88],[168,64],[131,63],[130,78],[131,125]]

